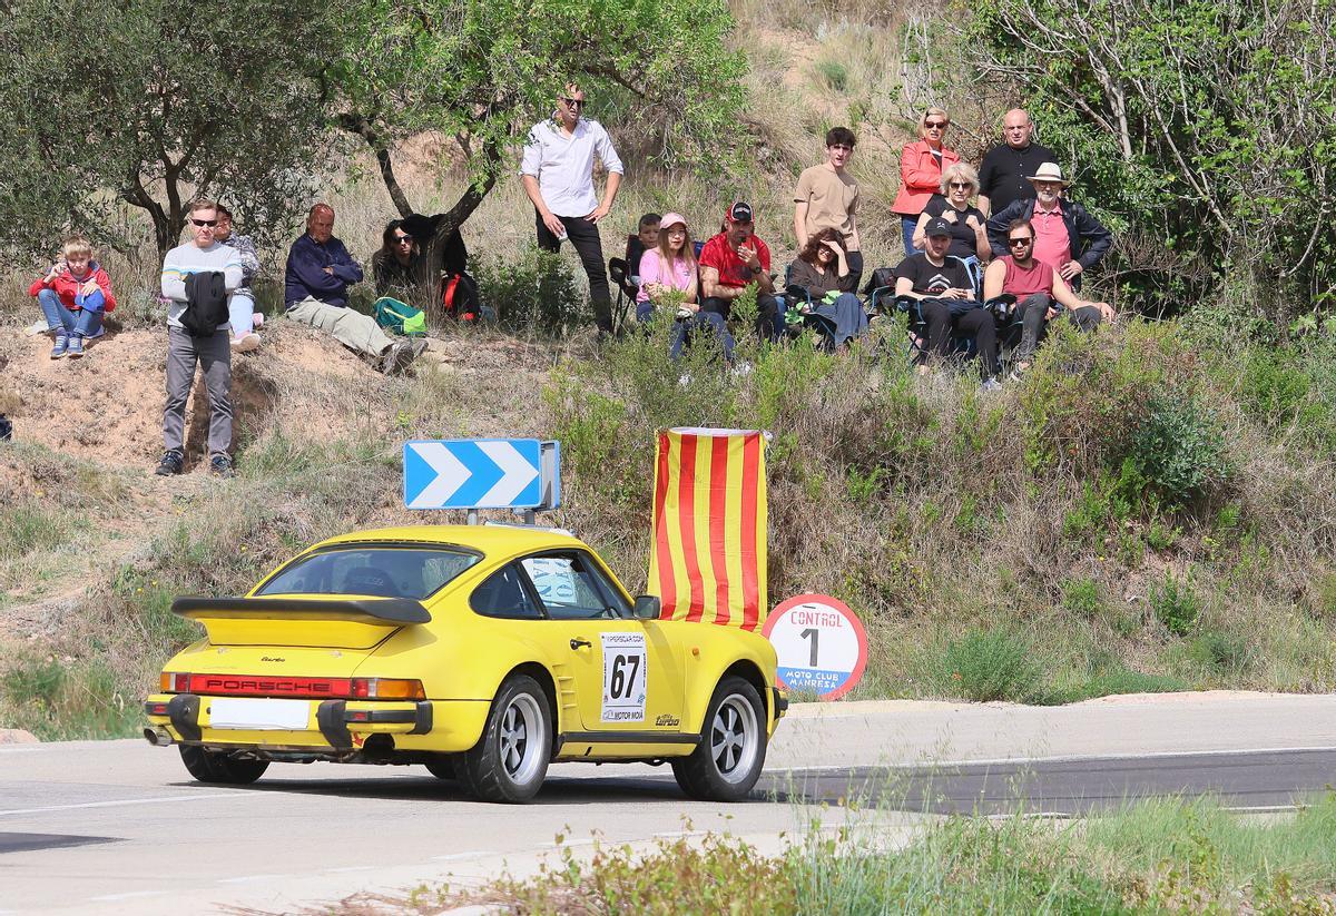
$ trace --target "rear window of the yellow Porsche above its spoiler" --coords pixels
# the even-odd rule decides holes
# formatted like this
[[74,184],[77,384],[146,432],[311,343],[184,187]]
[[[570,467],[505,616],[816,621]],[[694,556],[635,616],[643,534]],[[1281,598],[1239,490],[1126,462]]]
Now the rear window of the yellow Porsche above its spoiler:
[[298,557],[255,594],[371,594],[426,598],[482,559],[446,547],[349,545]]

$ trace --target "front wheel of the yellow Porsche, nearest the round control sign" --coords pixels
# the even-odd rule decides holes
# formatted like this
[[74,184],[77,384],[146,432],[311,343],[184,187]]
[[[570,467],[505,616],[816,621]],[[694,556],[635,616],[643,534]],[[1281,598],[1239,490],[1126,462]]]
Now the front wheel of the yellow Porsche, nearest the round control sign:
[[739,801],[760,778],[766,762],[766,706],[749,682],[725,677],[705,710],[700,744],[672,761],[677,785],[692,798]]

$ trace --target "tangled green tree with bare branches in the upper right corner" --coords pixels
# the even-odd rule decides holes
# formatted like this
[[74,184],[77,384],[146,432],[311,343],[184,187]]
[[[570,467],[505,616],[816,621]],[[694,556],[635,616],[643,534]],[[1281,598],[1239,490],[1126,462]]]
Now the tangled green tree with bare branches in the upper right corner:
[[973,47],[986,75],[1050,115],[1045,142],[1083,154],[1075,167],[1130,227],[1200,252],[1285,319],[1336,295],[1333,12],[983,0]]

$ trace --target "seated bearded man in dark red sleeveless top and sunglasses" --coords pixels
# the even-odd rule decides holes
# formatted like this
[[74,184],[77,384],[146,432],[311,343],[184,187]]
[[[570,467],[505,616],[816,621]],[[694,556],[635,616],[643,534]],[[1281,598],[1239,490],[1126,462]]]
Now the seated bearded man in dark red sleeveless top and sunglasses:
[[1030,220],[1011,220],[1006,243],[1010,254],[994,259],[983,272],[983,299],[991,302],[1002,295],[1015,296],[1022,331],[1013,377],[1019,377],[1030,367],[1039,336],[1058,311],[1066,311],[1071,323],[1082,331],[1093,331],[1101,320],[1113,318],[1113,308],[1108,302],[1078,299],[1058,271],[1034,258],[1034,226]]

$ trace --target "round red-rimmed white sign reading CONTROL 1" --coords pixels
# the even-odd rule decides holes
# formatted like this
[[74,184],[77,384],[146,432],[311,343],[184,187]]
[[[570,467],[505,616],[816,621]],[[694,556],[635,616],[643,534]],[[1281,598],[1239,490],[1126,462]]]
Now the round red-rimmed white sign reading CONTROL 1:
[[812,690],[822,700],[838,700],[863,678],[867,633],[836,598],[790,598],[766,618],[762,632],[775,646],[779,681],[788,690]]

